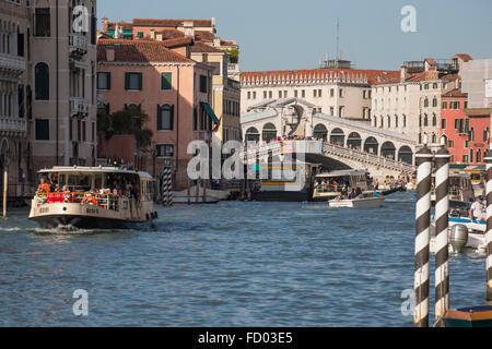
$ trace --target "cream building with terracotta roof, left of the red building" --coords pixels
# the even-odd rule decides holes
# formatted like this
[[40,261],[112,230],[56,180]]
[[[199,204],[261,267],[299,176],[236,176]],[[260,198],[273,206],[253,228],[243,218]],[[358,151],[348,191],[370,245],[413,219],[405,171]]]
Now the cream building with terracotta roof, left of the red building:
[[468,55],[456,55],[452,60],[406,62],[398,77],[374,83],[372,124],[407,134],[418,144],[426,139],[438,146],[441,98],[460,87],[459,68],[467,60]]

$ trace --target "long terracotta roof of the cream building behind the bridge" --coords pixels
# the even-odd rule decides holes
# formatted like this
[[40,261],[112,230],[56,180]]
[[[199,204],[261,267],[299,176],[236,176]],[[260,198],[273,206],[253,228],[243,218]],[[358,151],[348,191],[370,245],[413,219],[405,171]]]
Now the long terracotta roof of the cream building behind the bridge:
[[[328,76],[335,77],[336,74],[341,77],[350,77],[353,80],[367,77],[367,83],[373,84],[375,82],[388,82],[400,75],[399,71],[385,71],[385,70],[359,70],[359,69],[312,69],[312,70],[283,70],[283,71],[268,71],[268,72],[243,72],[241,73],[241,80],[256,80],[261,79],[319,79]],[[362,76],[362,77],[361,77]]]

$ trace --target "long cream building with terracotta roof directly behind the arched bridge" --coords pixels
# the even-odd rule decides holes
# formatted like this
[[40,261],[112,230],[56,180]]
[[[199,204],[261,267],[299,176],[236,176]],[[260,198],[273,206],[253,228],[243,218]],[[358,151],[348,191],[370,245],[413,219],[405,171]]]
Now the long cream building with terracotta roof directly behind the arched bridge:
[[297,71],[243,72],[241,112],[247,112],[249,108],[267,100],[302,98],[313,104],[318,112],[368,122],[372,116],[371,85],[398,74],[394,71],[355,70],[350,65]]

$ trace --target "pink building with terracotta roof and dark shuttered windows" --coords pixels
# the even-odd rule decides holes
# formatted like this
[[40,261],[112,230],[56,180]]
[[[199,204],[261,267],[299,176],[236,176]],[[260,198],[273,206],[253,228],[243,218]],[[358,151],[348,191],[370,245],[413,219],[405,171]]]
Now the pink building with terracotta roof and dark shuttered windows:
[[[180,45],[189,45],[186,40]],[[156,168],[152,153],[143,165],[136,164],[134,146],[101,142],[99,157],[124,158],[159,177],[165,161],[173,166],[175,189],[188,182],[187,164],[192,157],[187,146],[194,140],[209,140],[214,119],[208,115],[213,68],[179,55],[179,44],[152,40],[99,39],[97,43],[97,89],[113,113],[125,108],[141,108],[149,115],[147,127],[153,133]],[[184,50],[187,51],[186,49]],[[131,140],[131,137],[129,137]],[[114,142],[121,142],[120,137]],[[122,156],[121,156],[122,155]]]

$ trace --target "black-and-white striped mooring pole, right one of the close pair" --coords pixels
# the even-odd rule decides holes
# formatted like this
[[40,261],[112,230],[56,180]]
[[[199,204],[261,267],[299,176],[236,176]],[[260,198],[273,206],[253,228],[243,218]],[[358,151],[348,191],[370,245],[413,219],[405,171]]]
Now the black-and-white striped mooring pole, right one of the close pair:
[[438,321],[449,310],[449,159],[442,139],[435,154],[435,318]]

